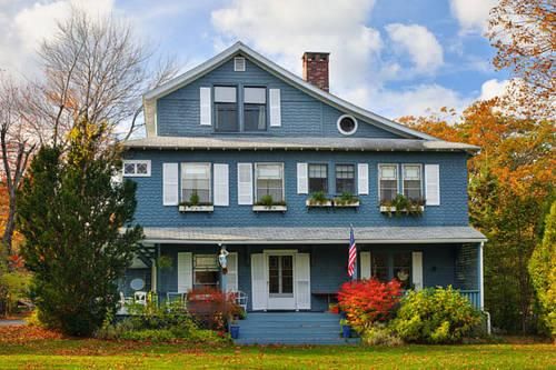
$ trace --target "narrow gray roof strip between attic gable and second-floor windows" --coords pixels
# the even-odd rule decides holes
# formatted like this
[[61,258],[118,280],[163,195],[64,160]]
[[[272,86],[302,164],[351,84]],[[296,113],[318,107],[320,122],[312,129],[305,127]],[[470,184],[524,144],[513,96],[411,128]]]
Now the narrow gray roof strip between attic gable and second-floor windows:
[[269,138],[269,137],[149,137],[123,142],[136,149],[206,149],[206,150],[364,150],[364,151],[469,151],[478,147],[460,142],[417,139],[365,138]]

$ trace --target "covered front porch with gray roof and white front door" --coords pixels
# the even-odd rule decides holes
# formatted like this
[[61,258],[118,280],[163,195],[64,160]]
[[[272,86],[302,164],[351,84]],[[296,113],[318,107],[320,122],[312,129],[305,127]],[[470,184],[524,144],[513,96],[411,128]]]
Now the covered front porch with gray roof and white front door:
[[[150,240],[145,243],[143,266],[128,270],[122,291],[129,296],[142,286],[141,290],[153,291],[163,301],[210,286],[245,293],[248,311],[327,311],[339,287],[348,281],[348,229],[252,229],[226,232],[198,228],[163,233],[146,229]],[[483,307],[484,237],[477,231],[356,228],[355,233],[358,278],[397,278],[406,289],[453,286],[476,308]],[[221,246],[230,252],[226,276],[216,259]]]

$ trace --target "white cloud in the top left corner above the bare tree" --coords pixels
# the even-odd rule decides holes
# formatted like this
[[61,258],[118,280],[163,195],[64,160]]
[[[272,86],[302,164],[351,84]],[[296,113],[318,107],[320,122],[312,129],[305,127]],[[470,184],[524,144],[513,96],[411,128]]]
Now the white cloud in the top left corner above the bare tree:
[[19,2],[0,10],[0,69],[19,77],[34,73],[34,52],[43,39],[56,32],[57,21],[70,14],[71,6],[92,17],[108,13],[113,9],[113,0],[58,0],[51,2]]

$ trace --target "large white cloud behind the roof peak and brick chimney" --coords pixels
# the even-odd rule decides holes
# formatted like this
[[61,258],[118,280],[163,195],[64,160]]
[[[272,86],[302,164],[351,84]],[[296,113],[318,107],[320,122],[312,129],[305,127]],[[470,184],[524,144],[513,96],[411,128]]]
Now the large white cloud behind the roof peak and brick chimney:
[[379,32],[365,23],[374,3],[234,0],[212,11],[219,34],[215,47],[240,39],[298,74],[304,51],[328,51],[330,89],[357,89],[376,69],[375,58],[383,47]]

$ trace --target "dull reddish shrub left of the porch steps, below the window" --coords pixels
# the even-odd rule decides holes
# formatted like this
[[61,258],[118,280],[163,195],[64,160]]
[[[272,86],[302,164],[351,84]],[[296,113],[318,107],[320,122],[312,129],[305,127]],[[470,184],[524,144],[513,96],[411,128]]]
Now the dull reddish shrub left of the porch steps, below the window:
[[187,294],[187,310],[199,324],[211,330],[224,330],[230,318],[241,313],[234,293],[214,288],[190,290]]

